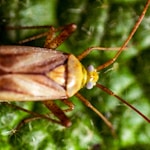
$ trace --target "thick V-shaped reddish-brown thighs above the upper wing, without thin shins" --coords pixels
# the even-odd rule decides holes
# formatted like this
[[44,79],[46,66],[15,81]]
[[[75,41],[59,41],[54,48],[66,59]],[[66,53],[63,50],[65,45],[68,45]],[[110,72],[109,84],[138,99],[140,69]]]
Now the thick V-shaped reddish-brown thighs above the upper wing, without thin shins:
[[76,28],[77,26],[75,24],[66,25],[62,28],[60,34],[54,37],[54,34],[58,32],[58,29],[51,27],[48,32],[44,47],[56,49],[76,30]]

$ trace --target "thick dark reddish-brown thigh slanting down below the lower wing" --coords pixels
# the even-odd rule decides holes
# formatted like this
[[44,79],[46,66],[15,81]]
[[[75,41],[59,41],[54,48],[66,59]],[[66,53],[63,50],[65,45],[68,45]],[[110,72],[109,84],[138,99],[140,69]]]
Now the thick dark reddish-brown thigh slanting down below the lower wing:
[[60,120],[61,124],[65,127],[71,126],[71,121],[65,115],[64,111],[61,110],[53,101],[43,101],[45,106]]

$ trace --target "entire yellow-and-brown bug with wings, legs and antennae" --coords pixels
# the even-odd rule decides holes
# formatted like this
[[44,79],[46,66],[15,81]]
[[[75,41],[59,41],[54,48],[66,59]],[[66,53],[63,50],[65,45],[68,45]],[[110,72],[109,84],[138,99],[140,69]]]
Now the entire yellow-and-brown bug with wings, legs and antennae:
[[[51,119],[46,115],[40,115],[25,110],[18,106],[14,107],[32,114],[34,116],[33,119],[36,117],[45,118],[68,127],[71,125],[71,121],[65,115],[65,112],[71,111],[74,108],[74,105],[68,100],[68,98],[75,95],[87,107],[98,114],[107,126],[113,130],[112,124],[78,92],[84,86],[88,89],[91,89],[93,86],[97,86],[109,95],[112,95],[122,101],[131,109],[136,111],[146,121],[150,122],[150,119],[134,106],[127,103],[108,88],[96,83],[98,80],[97,72],[116,61],[139,27],[149,5],[150,0],[147,1],[137,23],[133,27],[124,44],[119,48],[116,55],[111,60],[98,66],[96,69],[92,65],[90,65],[88,69],[85,69],[85,67],[80,63],[80,60],[86,57],[93,50],[105,50],[109,48],[90,47],[77,57],[72,54],[66,54],[55,50],[66,38],[70,36],[72,32],[75,31],[75,24],[69,24],[63,27],[61,29],[61,33],[55,37],[54,34],[58,30],[54,27],[50,27],[49,32],[44,34],[47,36],[44,45],[45,48],[0,46],[0,102],[42,101],[42,103],[52,111],[59,121]],[[32,38],[29,40],[32,40]],[[22,41],[22,43],[24,42],[26,42],[26,40]],[[61,110],[53,101],[55,99],[61,99],[61,101],[69,106],[69,108],[67,110]],[[8,103],[8,105],[10,104]],[[32,119],[29,119],[25,122],[29,122],[31,120]]]

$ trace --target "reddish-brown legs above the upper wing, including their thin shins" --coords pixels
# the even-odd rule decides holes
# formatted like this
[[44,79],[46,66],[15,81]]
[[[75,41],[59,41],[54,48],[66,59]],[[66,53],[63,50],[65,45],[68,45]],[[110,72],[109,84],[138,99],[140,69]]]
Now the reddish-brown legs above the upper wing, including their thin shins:
[[[18,43],[23,44],[47,36],[44,47],[56,49],[71,35],[72,32],[76,30],[77,26],[75,24],[69,24],[60,28],[54,28],[52,26],[24,26],[24,27],[18,26],[18,27],[6,27],[5,29],[17,30],[17,29],[40,29],[40,28],[49,28],[49,31],[21,40]],[[55,33],[59,31],[61,31],[60,34],[54,37]]]

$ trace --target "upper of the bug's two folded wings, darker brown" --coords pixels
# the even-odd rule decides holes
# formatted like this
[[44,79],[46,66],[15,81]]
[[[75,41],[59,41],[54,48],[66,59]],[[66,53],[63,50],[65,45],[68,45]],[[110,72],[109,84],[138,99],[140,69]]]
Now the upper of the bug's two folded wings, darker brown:
[[59,51],[28,46],[0,46],[0,73],[44,73],[64,64]]

